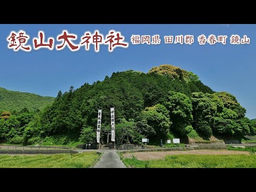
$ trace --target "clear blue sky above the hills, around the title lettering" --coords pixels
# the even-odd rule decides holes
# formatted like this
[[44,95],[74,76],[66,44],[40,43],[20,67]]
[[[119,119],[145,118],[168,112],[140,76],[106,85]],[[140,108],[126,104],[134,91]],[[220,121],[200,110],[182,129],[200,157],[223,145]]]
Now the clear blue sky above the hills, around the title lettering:
[[[11,31],[25,30],[30,36],[27,45],[33,46],[33,38],[43,30],[46,38],[56,41],[62,30],[78,36],[78,44],[85,31],[99,30],[107,35],[109,30],[120,31],[129,43],[127,49],[117,47],[108,51],[107,45],[100,45],[95,52],[81,47],[71,52],[68,47],[61,51],[39,49],[31,52],[7,49],[6,37]],[[197,37],[206,35],[227,35],[227,44],[198,45]],[[250,44],[231,45],[231,35],[247,35]],[[159,35],[160,45],[132,45],[132,35]],[[165,44],[164,36],[194,35],[192,45]],[[193,71],[201,81],[214,91],[227,91],[236,96],[246,108],[246,116],[256,118],[256,25],[0,25],[0,86],[8,90],[31,92],[56,97],[59,90],[68,91],[84,83],[102,81],[106,75],[124,70],[139,70],[147,73],[154,66],[171,64]],[[45,39],[46,40],[46,39]]]

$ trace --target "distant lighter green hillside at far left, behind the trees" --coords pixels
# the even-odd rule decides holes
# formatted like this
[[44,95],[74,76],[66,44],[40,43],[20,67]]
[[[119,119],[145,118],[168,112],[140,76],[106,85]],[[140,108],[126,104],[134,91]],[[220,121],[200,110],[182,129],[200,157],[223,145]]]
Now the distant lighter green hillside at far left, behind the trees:
[[25,107],[27,107],[30,111],[36,109],[41,110],[47,105],[51,105],[53,101],[53,97],[42,97],[33,93],[9,91],[0,87],[0,111],[20,111]]

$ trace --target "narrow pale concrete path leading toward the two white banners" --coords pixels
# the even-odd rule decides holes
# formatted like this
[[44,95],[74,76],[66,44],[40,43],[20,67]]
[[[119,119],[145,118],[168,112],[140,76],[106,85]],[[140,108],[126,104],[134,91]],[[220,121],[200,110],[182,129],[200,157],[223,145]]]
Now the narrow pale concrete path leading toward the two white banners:
[[116,150],[99,150],[103,153],[93,168],[126,168]]

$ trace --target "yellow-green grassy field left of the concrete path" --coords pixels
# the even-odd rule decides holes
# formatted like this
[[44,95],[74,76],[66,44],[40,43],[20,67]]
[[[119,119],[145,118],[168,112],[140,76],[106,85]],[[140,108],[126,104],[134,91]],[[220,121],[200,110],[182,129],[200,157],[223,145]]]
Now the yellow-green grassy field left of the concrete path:
[[0,155],[0,167],[87,168],[100,156],[96,152],[57,155]]

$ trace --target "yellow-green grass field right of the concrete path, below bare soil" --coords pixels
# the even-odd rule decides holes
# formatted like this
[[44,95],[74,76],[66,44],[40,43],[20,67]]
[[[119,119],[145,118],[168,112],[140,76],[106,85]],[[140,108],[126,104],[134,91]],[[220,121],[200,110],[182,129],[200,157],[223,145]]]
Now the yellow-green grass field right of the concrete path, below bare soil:
[[140,161],[133,156],[124,158],[123,162],[135,168],[255,168],[256,155],[167,155],[150,161]]

